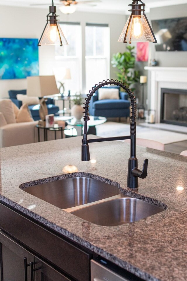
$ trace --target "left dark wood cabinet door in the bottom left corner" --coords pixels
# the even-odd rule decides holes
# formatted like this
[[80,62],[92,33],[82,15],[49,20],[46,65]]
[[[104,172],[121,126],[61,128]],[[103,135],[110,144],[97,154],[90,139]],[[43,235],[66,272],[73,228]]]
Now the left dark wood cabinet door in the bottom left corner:
[[31,281],[34,256],[0,231],[1,281]]

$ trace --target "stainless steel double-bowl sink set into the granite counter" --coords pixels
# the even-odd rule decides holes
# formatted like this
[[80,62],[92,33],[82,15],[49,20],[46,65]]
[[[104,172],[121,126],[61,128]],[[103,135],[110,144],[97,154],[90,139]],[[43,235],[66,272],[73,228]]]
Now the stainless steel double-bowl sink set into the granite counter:
[[117,186],[88,177],[71,177],[23,190],[83,220],[103,226],[135,222],[164,210],[122,194]]

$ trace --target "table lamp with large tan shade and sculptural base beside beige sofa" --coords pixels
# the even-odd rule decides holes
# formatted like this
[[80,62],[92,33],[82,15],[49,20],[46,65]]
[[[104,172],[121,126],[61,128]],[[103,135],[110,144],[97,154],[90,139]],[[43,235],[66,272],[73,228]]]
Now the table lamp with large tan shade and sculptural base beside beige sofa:
[[41,123],[45,125],[45,118],[48,114],[44,96],[58,94],[55,76],[29,76],[27,77],[27,95],[40,97],[39,116]]

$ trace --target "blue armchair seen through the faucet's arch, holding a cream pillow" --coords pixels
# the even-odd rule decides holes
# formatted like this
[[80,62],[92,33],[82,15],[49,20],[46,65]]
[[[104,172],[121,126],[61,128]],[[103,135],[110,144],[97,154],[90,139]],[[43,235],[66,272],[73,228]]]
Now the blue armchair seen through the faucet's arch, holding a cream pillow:
[[91,97],[89,103],[89,114],[92,116],[103,117],[129,117],[130,101],[126,92],[120,92],[120,86],[110,86],[102,88],[117,88],[119,89],[119,100],[98,100],[98,91]]

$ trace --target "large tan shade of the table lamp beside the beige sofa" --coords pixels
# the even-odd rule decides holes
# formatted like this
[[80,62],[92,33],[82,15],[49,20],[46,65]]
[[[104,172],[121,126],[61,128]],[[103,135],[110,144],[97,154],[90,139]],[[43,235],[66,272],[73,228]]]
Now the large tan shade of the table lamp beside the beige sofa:
[[55,76],[27,77],[27,95],[30,97],[44,97],[58,94]]

